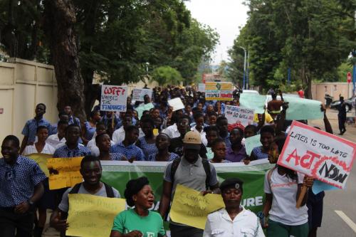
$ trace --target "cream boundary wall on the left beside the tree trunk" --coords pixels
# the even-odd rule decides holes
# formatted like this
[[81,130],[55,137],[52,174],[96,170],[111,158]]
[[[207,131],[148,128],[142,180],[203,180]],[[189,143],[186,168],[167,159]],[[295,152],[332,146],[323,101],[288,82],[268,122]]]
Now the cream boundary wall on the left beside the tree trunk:
[[10,134],[21,140],[23,125],[34,117],[35,106],[40,102],[47,107],[46,120],[58,121],[53,66],[19,58],[0,62],[0,142]]

